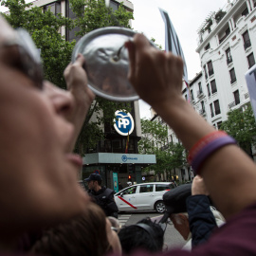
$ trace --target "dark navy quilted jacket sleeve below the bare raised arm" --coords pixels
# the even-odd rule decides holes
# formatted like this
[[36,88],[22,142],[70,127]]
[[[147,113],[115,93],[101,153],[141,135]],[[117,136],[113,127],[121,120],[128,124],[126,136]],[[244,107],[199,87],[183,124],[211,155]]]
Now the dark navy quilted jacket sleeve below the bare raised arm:
[[208,241],[217,224],[210,210],[210,200],[207,195],[197,194],[188,197],[187,210],[192,232],[192,247],[196,247]]

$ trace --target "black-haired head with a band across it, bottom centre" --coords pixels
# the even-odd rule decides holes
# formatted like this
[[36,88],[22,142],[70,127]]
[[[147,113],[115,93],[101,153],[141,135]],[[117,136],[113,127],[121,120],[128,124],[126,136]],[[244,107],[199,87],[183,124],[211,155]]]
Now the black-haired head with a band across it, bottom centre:
[[124,254],[137,249],[157,252],[163,247],[164,230],[150,218],[145,218],[136,225],[121,228],[119,240]]

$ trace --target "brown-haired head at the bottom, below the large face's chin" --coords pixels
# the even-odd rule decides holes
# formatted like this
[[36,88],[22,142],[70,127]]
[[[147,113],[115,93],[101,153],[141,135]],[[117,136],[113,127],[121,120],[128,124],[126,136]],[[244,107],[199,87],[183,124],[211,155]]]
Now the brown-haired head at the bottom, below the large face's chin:
[[81,216],[46,230],[31,248],[32,253],[52,256],[102,256],[109,252],[121,254],[117,232],[101,208],[93,203]]

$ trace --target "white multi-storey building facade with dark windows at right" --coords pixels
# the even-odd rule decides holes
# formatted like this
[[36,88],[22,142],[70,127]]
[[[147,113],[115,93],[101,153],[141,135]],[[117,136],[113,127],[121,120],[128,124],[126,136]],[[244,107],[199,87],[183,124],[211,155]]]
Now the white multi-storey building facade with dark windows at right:
[[[184,82],[182,94],[199,115],[219,129],[230,110],[243,108],[250,101],[245,74],[255,64],[256,0],[228,1],[224,9],[211,12],[198,29],[196,52],[202,69],[189,88]],[[176,142],[174,131],[169,129],[165,147]],[[255,148],[252,155],[255,160]],[[180,167],[177,175],[179,181],[190,180],[192,168]]]

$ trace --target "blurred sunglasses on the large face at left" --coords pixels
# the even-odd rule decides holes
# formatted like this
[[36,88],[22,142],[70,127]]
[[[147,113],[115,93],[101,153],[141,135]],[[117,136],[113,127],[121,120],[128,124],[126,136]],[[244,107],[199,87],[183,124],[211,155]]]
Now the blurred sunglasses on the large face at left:
[[18,28],[16,36],[5,42],[4,46],[17,46],[21,58],[21,71],[34,82],[39,89],[43,88],[43,66],[38,49],[27,30]]

